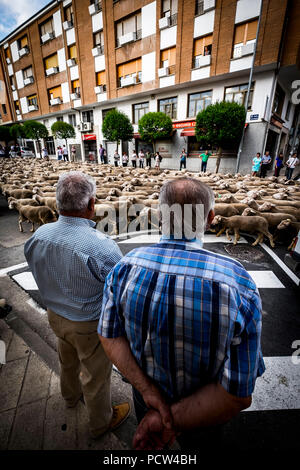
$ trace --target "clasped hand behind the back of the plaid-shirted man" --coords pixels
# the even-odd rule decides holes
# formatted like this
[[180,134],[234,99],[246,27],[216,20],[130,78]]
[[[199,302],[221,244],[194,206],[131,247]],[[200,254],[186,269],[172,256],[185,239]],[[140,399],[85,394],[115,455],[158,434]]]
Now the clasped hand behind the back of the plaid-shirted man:
[[161,450],[169,448],[176,439],[174,429],[166,429],[158,411],[149,410],[140,422],[133,437],[136,450]]

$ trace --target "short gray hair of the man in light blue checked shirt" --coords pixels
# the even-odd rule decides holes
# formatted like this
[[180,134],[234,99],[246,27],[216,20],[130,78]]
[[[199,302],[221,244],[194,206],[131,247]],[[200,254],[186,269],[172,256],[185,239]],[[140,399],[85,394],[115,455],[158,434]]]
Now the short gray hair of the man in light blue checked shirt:
[[81,171],[70,171],[60,175],[56,187],[58,211],[82,212],[91,198],[96,196],[95,180]]

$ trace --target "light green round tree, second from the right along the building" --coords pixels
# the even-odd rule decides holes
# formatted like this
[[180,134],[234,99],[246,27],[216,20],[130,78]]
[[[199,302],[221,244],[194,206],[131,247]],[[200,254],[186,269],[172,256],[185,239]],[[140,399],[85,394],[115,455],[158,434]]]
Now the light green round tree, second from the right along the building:
[[141,138],[152,144],[153,153],[155,153],[155,142],[169,137],[172,129],[172,119],[160,111],[144,114],[139,120]]

